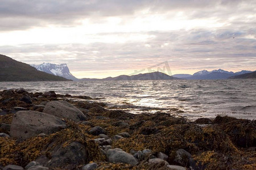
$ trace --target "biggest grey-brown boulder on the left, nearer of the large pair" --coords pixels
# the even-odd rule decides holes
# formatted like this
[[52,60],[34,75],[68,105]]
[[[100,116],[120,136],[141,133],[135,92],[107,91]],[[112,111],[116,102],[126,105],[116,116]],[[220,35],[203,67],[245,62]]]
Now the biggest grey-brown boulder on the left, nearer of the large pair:
[[36,111],[19,111],[11,122],[10,136],[27,139],[40,133],[51,134],[66,128],[59,117]]

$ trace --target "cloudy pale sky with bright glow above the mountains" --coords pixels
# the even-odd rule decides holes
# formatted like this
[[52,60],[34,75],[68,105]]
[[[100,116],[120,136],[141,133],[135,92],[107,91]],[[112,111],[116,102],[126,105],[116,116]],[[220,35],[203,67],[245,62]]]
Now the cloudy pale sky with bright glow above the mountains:
[[255,0],[0,2],[1,54],[77,78],[256,70]]

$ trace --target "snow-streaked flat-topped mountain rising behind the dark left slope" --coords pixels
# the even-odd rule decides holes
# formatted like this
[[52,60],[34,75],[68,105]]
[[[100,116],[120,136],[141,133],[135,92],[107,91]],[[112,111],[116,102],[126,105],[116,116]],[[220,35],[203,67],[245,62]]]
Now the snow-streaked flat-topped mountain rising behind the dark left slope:
[[43,71],[49,74],[62,76],[66,79],[71,80],[78,80],[75,76],[73,76],[68,69],[67,64],[63,63],[60,65],[56,65],[54,63],[42,63],[40,65],[31,65],[32,67],[35,67],[39,71]]

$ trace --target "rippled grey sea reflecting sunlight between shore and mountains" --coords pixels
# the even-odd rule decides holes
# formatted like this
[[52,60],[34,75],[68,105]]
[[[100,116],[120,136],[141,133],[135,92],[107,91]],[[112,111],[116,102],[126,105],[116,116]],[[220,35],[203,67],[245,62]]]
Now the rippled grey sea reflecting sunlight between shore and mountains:
[[256,80],[133,80],[104,82],[0,82],[0,90],[99,97],[110,109],[130,113],[166,112],[189,120],[229,115],[256,119]]

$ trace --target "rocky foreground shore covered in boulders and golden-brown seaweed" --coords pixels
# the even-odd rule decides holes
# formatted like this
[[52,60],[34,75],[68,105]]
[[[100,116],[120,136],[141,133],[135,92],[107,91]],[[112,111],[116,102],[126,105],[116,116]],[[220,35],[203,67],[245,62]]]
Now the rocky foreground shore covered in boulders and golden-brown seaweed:
[[0,92],[0,169],[256,169],[256,122],[110,110],[88,96]]

